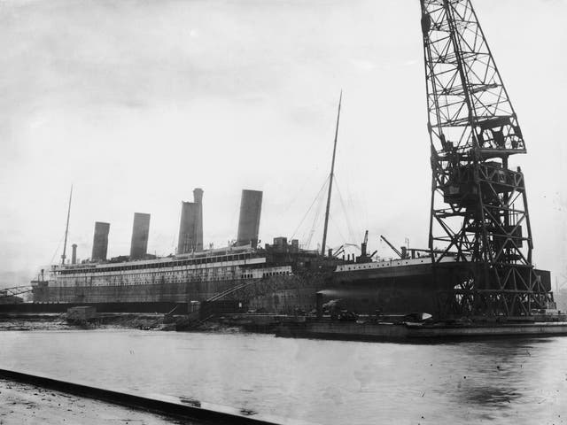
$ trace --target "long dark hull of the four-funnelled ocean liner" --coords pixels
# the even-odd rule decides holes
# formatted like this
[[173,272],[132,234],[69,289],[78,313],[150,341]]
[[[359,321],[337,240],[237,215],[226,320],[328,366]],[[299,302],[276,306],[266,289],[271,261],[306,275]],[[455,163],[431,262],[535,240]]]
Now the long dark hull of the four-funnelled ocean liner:
[[[82,278],[75,279],[72,285],[38,282],[34,301],[73,305],[189,305],[192,301],[232,300],[267,313],[308,313],[331,300],[340,300],[342,309],[361,314],[420,312],[439,316],[443,299],[454,290],[456,278],[466,268],[462,262],[447,260],[435,267],[434,275],[431,259],[423,258],[346,264],[338,266],[334,272],[264,273],[276,268],[258,268],[255,269],[258,272],[253,273],[263,277],[185,282],[167,282],[167,278],[173,281],[176,277],[175,272],[166,271],[151,283],[84,285],[80,284],[84,282]],[[548,288],[548,272],[536,272],[541,274]]]

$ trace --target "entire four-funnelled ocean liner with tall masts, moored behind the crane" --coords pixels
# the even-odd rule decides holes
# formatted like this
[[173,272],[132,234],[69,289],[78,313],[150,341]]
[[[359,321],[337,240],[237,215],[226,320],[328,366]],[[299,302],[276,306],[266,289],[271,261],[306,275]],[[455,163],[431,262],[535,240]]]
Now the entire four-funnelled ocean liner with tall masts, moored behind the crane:
[[[339,258],[340,250],[326,251],[339,117],[340,101],[321,251],[301,249],[297,239],[288,243],[286,237],[258,246],[262,192],[257,190],[243,190],[237,242],[204,250],[203,190],[195,189],[194,201],[182,205],[175,255],[147,254],[150,215],[136,213],[130,255],[106,259],[110,224],[97,222],[91,258],[78,264],[73,245],[71,262],[66,263],[64,248],[61,264],[50,268],[47,279],[42,273],[32,282],[34,303],[97,305],[100,310],[112,305],[115,311],[147,311],[160,303],[183,305],[180,310],[229,303],[232,310],[299,313],[340,300],[358,313],[422,312],[441,317],[453,309],[457,315],[492,314],[490,305],[485,305],[491,290],[485,290],[483,302],[487,301],[478,308],[473,298],[478,290],[466,286],[470,276],[481,275],[485,266],[471,261],[468,252],[436,251],[431,241],[428,250],[398,251],[388,243],[399,259],[374,259],[376,252],[366,251],[368,232],[358,257]],[[548,297],[549,272],[531,267],[529,271],[541,294]],[[460,310],[455,311],[455,305]],[[522,301],[524,305],[529,308],[530,303]]]

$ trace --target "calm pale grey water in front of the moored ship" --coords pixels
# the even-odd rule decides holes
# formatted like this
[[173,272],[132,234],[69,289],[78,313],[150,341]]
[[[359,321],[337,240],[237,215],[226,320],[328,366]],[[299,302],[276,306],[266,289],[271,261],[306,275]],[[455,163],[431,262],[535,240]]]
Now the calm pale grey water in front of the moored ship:
[[378,344],[267,335],[0,332],[0,367],[317,423],[567,423],[567,337]]

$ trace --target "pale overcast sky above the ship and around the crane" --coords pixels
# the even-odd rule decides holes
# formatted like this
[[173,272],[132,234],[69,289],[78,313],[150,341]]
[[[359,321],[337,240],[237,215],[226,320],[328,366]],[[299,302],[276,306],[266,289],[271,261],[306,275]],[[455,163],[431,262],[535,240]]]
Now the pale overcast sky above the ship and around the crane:
[[[528,148],[515,165],[533,259],[559,275],[567,2],[475,5]],[[360,243],[368,228],[369,249],[385,257],[380,234],[425,247],[419,21],[417,0],[3,2],[0,285],[58,260],[72,183],[69,244],[82,259],[96,220],[111,223],[109,255],[128,254],[135,212],[151,213],[149,251],[175,251],[195,187],[206,245],[236,237],[240,190],[260,189],[262,243],[294,232],[305,243],[314,228],[315,248],[322,213],[299,223],[329,173],[340,89],[330,246]]]

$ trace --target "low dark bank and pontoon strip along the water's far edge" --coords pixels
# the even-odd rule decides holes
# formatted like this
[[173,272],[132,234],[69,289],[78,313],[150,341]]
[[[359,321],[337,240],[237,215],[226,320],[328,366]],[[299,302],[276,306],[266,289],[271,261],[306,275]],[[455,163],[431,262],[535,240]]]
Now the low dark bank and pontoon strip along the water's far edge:
[[97,313],[73,321],[60,313],[0,314],[0,331],[137,329],[199,333],[268,334],[276,337],[401,344],[435,344],[472,339],[567,336],[567,321],[384,322],[333,321],[277,314],[229,314],[212,320],[163,313]]

